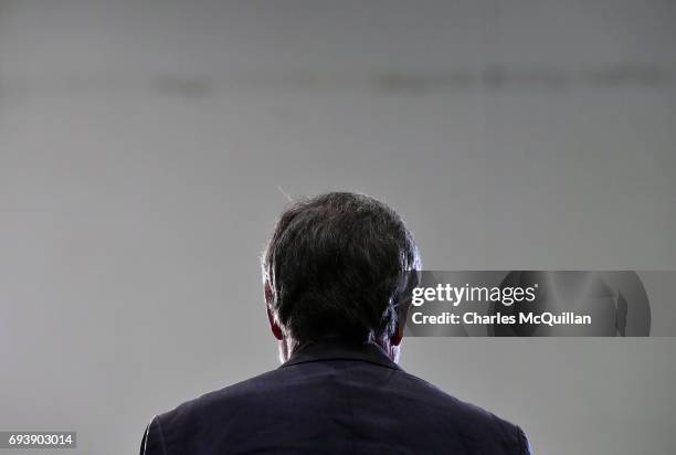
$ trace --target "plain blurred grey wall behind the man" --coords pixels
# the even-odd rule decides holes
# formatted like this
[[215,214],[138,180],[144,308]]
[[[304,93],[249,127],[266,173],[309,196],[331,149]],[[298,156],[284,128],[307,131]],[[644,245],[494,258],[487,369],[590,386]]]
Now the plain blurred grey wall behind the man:
[[[0,0],[0,430],[137,453],[273,369],[258,254],[369,193],[429,269],[676,268],[676,4]],[[286,195],[285,195],[286,194]],[[404,341],[535,453],[676,453],[676,340]]]

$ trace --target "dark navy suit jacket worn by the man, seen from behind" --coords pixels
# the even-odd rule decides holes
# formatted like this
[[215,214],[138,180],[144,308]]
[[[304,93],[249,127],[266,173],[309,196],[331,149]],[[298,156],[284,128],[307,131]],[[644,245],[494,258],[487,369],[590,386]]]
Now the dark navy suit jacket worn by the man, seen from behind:
[[181,404],[141,455],[530,453],[516,425],[415,378],[376,345],[327,340],[278,369]]

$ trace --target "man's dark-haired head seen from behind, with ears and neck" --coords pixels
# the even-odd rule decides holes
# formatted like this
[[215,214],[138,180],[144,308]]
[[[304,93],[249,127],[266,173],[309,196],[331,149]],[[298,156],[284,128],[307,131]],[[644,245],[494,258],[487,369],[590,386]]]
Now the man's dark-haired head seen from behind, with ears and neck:
[[377,342],[397,359],[409,272],[420,269],[420,256],[384,203],[332,192],[292,204],[262,265],[283,361],[296,347],[330,336]]

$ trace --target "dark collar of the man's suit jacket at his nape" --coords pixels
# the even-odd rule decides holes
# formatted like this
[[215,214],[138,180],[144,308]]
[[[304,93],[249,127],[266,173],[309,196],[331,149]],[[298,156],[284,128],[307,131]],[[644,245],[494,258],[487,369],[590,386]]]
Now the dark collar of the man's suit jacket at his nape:
[[279,368],[321,360],[360,360],[401,370],[380,346],[373,342],[355,343],[340,338],[326,338],[302,346]]

